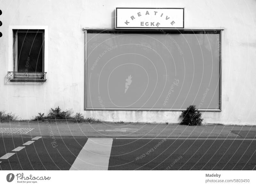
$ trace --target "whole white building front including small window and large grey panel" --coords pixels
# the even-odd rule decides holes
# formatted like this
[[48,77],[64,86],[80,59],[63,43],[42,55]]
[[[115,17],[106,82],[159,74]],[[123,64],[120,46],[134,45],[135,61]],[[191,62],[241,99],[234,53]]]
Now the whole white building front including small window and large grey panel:
[[[172,26],[163,9],[181,8],[184,29],[142,20],[116,28],[116,7],[161,8],[148,14]],[[4,0],[0,110],[26,120],[60,106],[105,121],[179,123],[194,104],[204,123],[255,125],[255,9],[253,0]],[[147,12],[126,15],[128,25]]]

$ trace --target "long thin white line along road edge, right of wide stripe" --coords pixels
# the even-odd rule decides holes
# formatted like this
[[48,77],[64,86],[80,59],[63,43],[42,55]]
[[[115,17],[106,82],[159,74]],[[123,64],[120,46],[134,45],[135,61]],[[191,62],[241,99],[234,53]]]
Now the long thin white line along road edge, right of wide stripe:
[[243,138],[114,138],[114,139],[166,139],[166,140],[251,140],[255,141],[256,139],[243,139]]

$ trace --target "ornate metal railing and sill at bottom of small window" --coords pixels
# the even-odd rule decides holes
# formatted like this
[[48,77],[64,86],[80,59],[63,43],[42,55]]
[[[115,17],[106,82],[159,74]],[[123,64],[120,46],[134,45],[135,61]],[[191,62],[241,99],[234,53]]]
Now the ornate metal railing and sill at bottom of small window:
[[10,81],[46,81],[46,72],[8,72]]

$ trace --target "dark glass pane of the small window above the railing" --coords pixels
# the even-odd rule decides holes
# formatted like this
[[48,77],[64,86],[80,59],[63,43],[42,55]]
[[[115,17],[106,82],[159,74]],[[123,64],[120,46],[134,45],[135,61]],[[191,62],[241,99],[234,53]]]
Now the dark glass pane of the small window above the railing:
[[18,72],[43,71],[42,43],[42,33],[18,33]]

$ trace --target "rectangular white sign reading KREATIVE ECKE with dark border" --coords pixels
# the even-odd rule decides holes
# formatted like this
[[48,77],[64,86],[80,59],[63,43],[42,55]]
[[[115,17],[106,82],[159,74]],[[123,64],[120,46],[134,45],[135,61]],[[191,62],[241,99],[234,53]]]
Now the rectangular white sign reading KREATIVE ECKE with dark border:
[[184,8],[116,8],[116,29],[184,29]]

